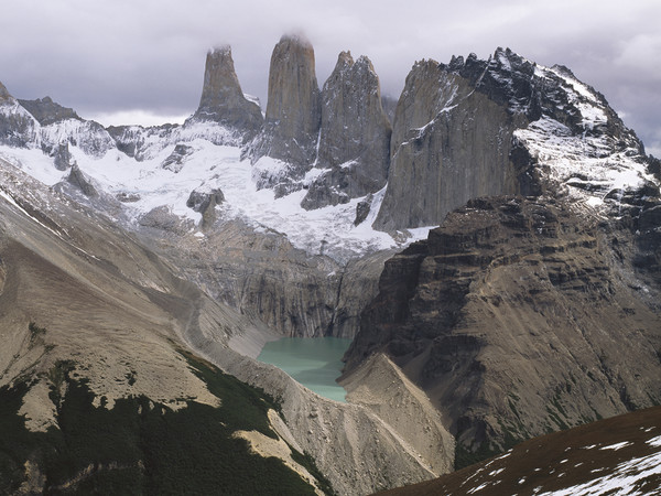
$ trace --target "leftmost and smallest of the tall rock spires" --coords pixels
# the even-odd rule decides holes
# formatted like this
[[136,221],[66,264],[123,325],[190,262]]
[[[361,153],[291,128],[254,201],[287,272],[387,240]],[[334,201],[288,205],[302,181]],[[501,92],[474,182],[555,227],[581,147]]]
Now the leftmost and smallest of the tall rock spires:
[[245,132],[248,139],[262,126],[259,105],[243,96],[229,45],[207,53],[202,98],[194,118],[228,126]]

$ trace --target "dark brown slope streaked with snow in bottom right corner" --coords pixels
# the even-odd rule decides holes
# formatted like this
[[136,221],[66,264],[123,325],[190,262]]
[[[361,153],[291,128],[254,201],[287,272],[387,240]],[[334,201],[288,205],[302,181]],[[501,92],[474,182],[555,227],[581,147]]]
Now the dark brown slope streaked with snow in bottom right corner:
[[660,487],[661,407],[653,407],[535,438],[438,479],[379,495],[633,495]]

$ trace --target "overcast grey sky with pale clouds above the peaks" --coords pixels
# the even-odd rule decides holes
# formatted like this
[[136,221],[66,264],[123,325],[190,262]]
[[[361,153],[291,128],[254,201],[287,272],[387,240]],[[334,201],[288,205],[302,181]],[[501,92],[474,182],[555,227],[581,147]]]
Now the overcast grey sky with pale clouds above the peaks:
[[[399,96],[416,60],[486,58],[509,46],[563,64],[603,93],[661,155],[661,1],[2,0],[0,82],[84,118],[162,123],[191,115],[208,48],[230,44],[245,93],[266,107],[269,61],[285,32],[315,48],[319,86],[337,54],[371,58]],[[119,120],[119,121],[118,121]]]

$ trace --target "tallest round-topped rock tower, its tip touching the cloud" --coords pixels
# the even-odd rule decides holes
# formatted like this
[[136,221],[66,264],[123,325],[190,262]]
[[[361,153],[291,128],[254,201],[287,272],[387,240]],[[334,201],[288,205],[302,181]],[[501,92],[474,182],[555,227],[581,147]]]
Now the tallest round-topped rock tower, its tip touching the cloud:
[[245,155],[293,164],[293,180],[301,179],[315,159],[321,115],[314,50],[301,36],[282,36],[271,56],[264,128]]

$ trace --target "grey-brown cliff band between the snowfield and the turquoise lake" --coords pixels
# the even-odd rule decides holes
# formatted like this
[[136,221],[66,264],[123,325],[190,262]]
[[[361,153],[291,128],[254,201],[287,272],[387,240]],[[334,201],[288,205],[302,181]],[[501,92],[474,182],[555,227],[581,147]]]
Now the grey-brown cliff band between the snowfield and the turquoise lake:
[[360,312],[377,294],[383,262],[392,256],[381,251],[338,262],[241,222],[220,217],[204,227],[205,237],[193,241],[187,233],[161,231],[172,240],[160,249],[215,300],[285,336],[354,337]]

